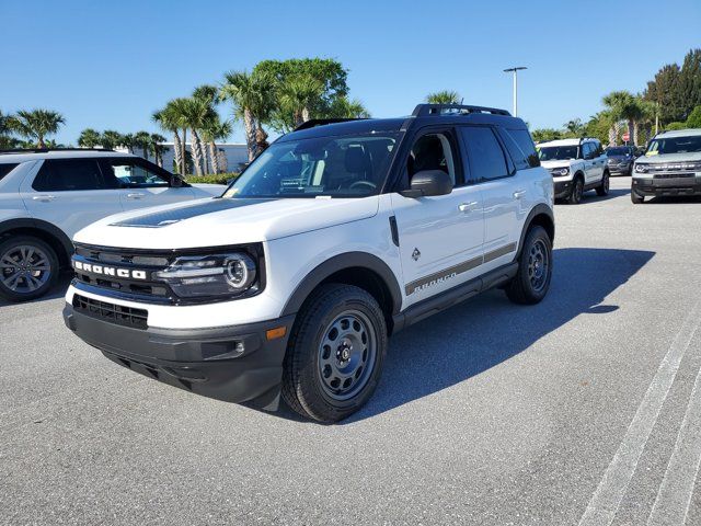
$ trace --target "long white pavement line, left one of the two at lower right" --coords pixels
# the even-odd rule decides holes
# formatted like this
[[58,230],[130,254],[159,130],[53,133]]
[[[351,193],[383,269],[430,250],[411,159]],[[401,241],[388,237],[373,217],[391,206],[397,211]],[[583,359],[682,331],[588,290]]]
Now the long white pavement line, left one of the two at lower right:
[[665,403],[669,388],[675,381],[679,363],[691,343],[693,333],[701,322],[701,300],[698,300],[689,311],[681,329],[669,346],[669,351],[659,364],[647,392],[643,398],[633,421],[628,426],[613,459],[599,487],[596,489],[584,515],[579,519],[581,526],[610,525],[625,494],[628,484],[635,472],[640,456],[647,444],[647,438],[657,422],[659,410]]

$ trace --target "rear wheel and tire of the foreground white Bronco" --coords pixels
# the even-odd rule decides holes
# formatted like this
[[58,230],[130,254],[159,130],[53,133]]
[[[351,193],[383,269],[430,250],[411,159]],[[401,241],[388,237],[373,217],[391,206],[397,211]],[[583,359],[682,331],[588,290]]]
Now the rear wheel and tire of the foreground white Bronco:
[[518,272],[506,286],[506,296],[519,305],[538,304],[548,294],[551,278],[552,243],[543,227],[533,226],[524,240]]

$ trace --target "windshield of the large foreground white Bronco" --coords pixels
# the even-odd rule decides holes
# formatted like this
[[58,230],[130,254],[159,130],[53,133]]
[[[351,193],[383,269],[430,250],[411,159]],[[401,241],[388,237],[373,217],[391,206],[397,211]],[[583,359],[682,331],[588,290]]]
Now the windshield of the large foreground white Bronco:
[[398,134],[315,137],[276,142],[223,197],[365,197],[377,194]]

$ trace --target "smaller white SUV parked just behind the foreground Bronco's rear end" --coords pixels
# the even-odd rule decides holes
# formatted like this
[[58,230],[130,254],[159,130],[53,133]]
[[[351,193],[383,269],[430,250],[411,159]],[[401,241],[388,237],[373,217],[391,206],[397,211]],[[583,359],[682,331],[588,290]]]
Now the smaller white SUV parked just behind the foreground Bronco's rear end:
[[598,139],[559,139],[538,145],[543,168],[550,170],[555,198],[578,204],[587,190],[598,195],[609,193],[608,158]]

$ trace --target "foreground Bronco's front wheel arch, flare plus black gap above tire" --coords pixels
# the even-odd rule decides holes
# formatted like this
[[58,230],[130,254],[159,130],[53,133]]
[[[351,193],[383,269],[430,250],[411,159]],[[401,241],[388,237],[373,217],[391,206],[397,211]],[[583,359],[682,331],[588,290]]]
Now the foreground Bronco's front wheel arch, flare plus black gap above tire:
[[392,316],[402,306],[402,293],[389,265],[366,252],[345,252],[314,267],[295,288],[280,316],[299,312],[313,290],[325,283],[355,285],[367,290],[382,308],[391,332]]

